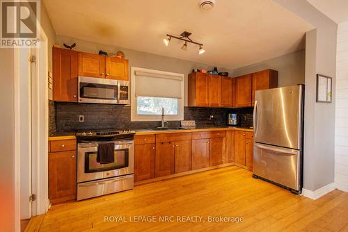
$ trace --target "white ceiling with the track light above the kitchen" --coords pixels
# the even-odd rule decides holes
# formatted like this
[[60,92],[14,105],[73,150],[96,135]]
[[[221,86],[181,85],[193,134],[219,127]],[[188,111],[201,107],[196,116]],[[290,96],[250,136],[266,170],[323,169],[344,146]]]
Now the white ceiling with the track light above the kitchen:
[[[218,0],[209,11],[198,0],[45,0],[58,35],[111,44],[219,67],[242,67],[304,48],[313,28],[271,0]],[[173,41],[166,33],[192,33],[198,47]],[[126,54],[127,56],[127,54]]]

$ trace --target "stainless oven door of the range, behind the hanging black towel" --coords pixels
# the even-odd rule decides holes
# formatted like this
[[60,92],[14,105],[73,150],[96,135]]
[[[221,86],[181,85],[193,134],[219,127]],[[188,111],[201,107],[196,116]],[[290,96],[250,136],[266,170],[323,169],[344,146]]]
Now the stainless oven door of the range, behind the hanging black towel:
[[77,146],[77,182],[95,181],[114,176],[133,174],[134,142],[111,141],[115,143],[113,163],[97,163],[97,142],[80,143]]

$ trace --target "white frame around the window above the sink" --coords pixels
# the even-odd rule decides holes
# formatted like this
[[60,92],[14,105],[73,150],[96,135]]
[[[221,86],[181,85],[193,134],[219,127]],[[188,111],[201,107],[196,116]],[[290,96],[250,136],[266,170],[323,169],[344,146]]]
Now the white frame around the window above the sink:
[[[184,120],[184,74],[178,74],[174,72],[164,72],[154,69],[144,69],[141,67],[131,67],[131,122],[152,122],[161,121],[161,115],[138,115],[137,114],[137,99],[135,96],[135,82],[136,82],[136,71],[148,72],[152,74],[163,74],[170,76],[182,76],[181,83],[181,98],[177,99],[177,115],[166,115],[164,119],[166,121],[181,121]],[[150,96],[141,96],[150,97]]]

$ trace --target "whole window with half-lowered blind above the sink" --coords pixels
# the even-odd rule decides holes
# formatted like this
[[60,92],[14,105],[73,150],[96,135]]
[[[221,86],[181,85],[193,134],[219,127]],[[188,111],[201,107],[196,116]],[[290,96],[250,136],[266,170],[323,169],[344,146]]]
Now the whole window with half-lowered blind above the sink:
[[132,67],[132,121],[184,119],[184,74]]

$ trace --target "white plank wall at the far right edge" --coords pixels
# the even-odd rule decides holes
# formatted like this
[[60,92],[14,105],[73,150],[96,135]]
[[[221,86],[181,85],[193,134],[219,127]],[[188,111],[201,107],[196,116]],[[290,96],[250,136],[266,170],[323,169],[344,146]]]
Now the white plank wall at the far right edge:
[[348,192],[348,22],[338,25],[335,109],[335,183]]

